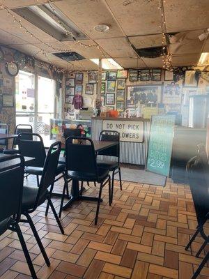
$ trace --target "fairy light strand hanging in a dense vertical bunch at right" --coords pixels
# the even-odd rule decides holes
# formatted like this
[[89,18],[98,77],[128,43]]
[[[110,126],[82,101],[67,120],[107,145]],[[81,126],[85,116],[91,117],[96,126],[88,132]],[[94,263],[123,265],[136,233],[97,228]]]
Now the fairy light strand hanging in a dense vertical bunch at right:
[[166,22],[164,18],[164,8],[163,3],[165,3],[165,0],[159,0],[160,5],[158,6],[158,9],[161,13],[161,23],[160,23],[160,29],[162,31],[162,61],[163,61],[163,68],[165,70],[173,70],[172,61],[171,61],[171,54],[169,52],[169,47],[166,47]]

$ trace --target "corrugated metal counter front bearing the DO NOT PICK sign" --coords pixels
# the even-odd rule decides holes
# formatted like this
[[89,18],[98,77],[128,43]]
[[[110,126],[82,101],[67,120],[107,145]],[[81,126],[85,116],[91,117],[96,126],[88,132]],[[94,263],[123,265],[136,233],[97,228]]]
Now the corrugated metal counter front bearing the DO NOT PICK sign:
[[146,165],[149,119],[93,117],[91,128],[93,140],[99,139],[102,130],[118,131],[121,137],[121,163]]

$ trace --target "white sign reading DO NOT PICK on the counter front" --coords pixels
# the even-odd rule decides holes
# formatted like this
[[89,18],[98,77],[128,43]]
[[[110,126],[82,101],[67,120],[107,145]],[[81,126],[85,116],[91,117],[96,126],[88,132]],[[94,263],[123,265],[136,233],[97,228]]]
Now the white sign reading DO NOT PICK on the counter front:
[[115,130],[120,133],[121,142],[143,142],[143,121],[103,121],[103,130]]

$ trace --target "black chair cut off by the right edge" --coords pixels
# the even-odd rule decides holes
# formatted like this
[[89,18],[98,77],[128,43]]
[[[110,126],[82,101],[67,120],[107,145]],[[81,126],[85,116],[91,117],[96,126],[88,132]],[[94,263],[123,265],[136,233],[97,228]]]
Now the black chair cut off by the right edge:
[[[196,232],[185,247],[185,250],[189,249],[196,236],[200,234],[204,239],[204,243],[196,253],[196,257],[199,257],[202,250],[206,247],[207,243],[209,243],[209,236],[204,232],[204,225],[206,221],[209,220],[209,165],[206,151],[199,148],[198,155],[189,160],[187,163],[187,174],[198,226]],[[195,279],[199,275],[208,259],[209,252],[195,271],[192,279]]]

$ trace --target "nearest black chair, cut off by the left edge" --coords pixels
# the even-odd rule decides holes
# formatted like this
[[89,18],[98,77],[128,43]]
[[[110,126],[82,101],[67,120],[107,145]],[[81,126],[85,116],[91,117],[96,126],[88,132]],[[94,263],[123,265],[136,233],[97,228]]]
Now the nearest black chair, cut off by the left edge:
[[4,162],[6,165],[9,165],[8,163],[10,160],[18,158],[20,159],[20,165],[15,165],[15,167],[10,165],[6,170],[0,169],[0,235],[6,232],[7,229],[17,232],[31,276],[33,279],[37,279],[29,251],[19,226],[22,210],[24,157],[20,155],[5,156],[4,158],[0,158],[0,163]]

